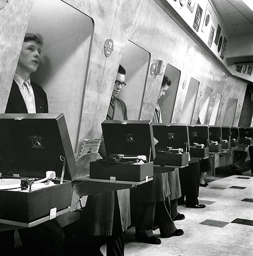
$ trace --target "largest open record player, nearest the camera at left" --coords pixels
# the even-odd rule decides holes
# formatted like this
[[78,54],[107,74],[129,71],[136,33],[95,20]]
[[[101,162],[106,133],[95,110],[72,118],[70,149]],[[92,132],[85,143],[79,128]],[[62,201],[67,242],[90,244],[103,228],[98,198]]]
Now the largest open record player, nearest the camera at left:
[[0,114],[0,134],[0,223],[32,227],[69,211],[76,164],[64,115]]

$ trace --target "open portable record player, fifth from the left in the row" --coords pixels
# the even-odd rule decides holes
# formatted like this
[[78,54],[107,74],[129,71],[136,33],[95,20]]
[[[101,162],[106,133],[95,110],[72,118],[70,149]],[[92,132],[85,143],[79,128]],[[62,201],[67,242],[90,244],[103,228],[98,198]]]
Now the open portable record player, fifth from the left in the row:
[[209,126],[209,153],[221,153],[221,126]]

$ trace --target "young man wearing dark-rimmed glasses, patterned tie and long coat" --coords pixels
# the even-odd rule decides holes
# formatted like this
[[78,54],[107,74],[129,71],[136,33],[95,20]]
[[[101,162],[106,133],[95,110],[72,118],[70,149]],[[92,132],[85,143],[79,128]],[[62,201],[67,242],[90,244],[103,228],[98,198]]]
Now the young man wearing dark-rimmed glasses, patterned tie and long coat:
[[[107,120],[127,120],[126,105],[117,98],[121,88],[126,85],[125,74],[125,69],[120,65],[113,86]],[[99,154],[106,157],[103,142]],[[123,232],[130,226],[129,189],[88,196],[86,206],[81,212],[81,223],[82,235],[85,234],[83,240],[88,241],[88,248],[86,247],[85,250],[89,251],[90,255],[102,256],[100,247],[107,243],[107,255],[124,256]],[[87,235],[89,237],[86,237]]]

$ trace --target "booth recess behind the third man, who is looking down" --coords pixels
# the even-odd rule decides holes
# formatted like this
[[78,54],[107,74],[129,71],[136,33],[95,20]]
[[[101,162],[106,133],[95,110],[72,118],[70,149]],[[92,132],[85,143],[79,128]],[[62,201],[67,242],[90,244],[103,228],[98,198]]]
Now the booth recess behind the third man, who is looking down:
[[171,85],[165,92],[165,95],[158,100],[162,113],[162,121],[164,123],[171,123],[180,74],[180,70],[171,66],[170,64],[167,64],[164,75],[168,76],[171,81]]

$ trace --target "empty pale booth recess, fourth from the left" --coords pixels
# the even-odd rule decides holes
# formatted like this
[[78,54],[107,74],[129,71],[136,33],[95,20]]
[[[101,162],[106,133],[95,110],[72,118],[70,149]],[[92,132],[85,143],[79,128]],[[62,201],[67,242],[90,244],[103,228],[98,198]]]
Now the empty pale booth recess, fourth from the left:
[[180,123],[192,122],[192,116],[196,104],[199,84],[200,82],[198,82],[196,79],[190,79],[184,106],[182,109]]

